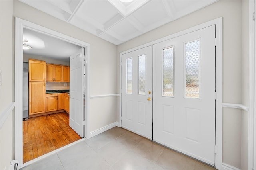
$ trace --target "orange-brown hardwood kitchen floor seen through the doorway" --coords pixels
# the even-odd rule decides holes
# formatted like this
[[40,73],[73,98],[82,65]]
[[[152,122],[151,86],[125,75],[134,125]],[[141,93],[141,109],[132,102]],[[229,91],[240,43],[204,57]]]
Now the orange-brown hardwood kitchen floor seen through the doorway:
[[23,121],[23,163],[78,139],[66,112],[29,118]]

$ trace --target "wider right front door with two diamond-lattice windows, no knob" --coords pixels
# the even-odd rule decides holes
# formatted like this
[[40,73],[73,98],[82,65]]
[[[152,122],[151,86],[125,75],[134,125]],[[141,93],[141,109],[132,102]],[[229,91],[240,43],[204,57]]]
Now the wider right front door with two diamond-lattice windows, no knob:
[[154,45],[153,139],[214,165],[214,25]]

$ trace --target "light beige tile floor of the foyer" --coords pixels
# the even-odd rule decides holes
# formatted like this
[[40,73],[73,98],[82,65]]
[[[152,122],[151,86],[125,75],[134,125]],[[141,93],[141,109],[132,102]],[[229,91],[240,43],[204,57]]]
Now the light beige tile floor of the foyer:
[[215,170],[125,129],[114,127],[23,170]]

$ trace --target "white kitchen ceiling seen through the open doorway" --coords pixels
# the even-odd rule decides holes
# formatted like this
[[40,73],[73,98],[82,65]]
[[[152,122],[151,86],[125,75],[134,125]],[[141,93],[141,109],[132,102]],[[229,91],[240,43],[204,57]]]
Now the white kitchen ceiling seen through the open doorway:
[[62,61],[69,61],[69,57],[81,48],[78,45],[25,28],[23,30],[23,39],[28,40],[26,45],[32,47],[30,50],[23,50],[24,54]]

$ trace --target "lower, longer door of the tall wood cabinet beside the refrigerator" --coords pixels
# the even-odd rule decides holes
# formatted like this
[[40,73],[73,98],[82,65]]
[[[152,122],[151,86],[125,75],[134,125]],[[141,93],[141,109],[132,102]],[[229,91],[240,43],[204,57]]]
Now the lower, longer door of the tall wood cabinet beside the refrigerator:
[[45,82],[29,82],[28,113],[34,115],[45,112]]

